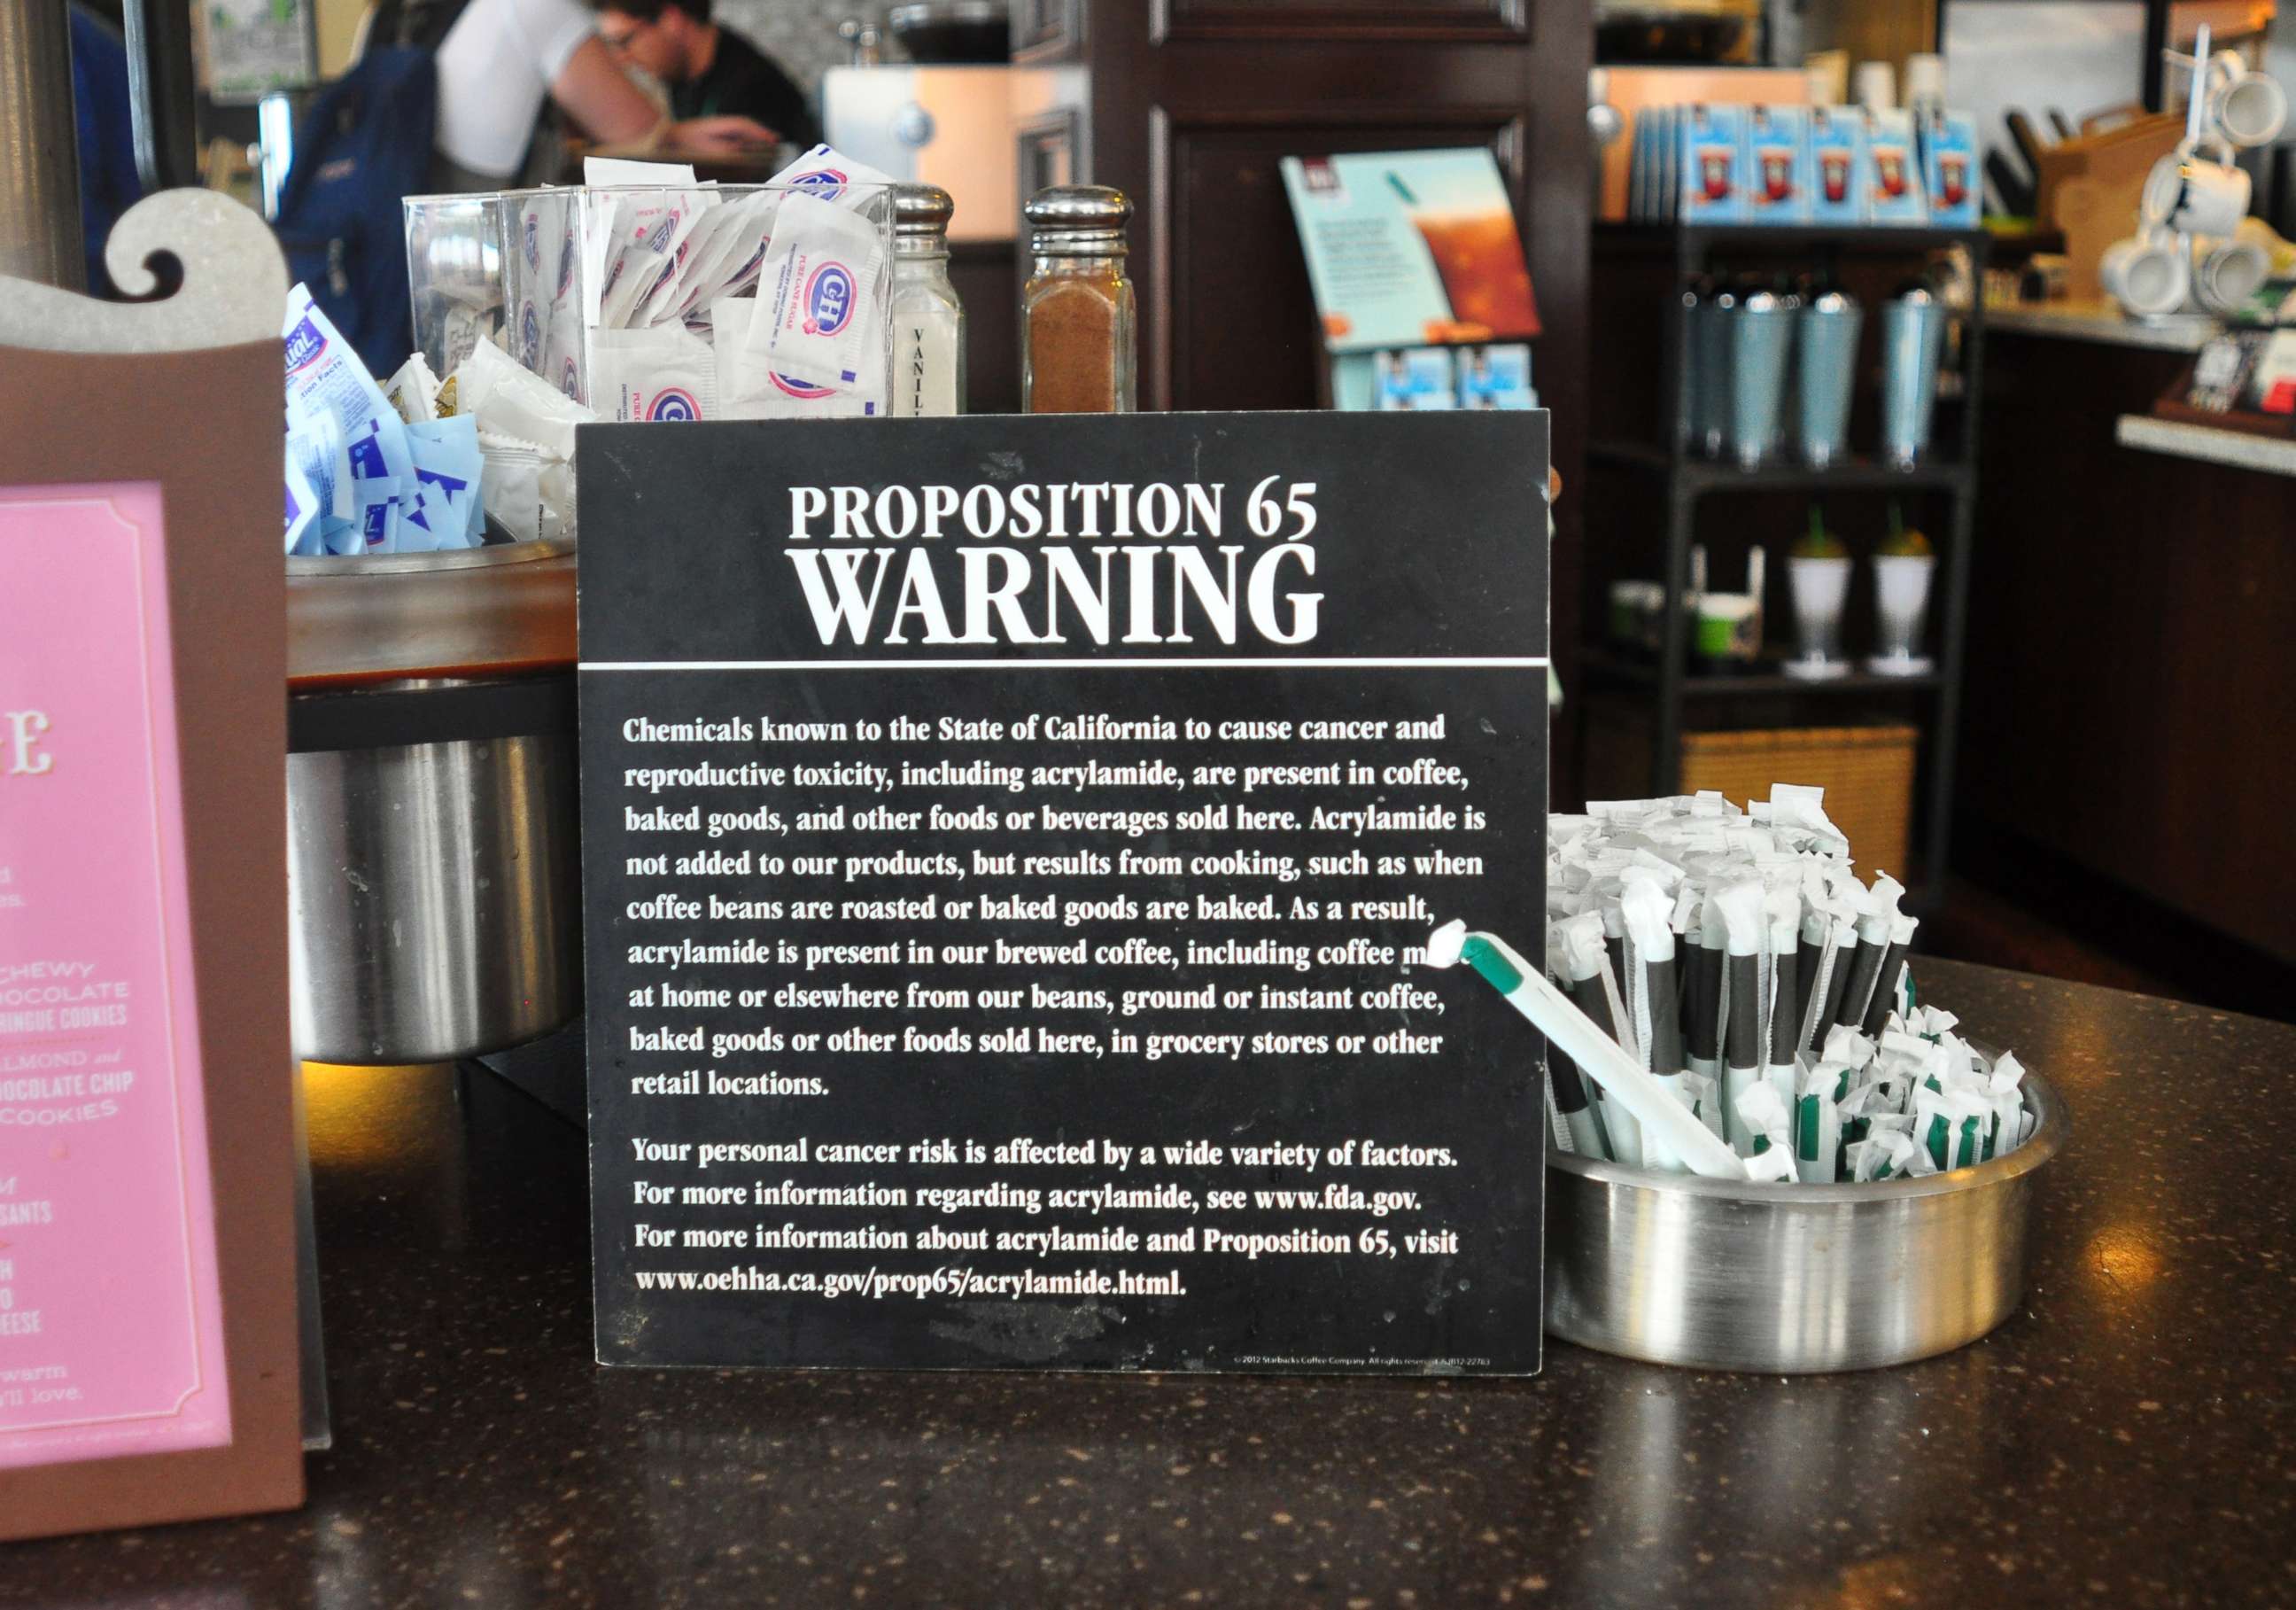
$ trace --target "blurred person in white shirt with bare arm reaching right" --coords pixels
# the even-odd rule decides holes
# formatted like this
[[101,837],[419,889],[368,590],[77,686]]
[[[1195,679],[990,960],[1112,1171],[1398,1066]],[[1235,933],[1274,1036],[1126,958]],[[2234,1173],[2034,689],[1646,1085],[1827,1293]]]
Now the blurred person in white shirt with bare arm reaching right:
[[441,184],[494,191],[514,181],[544,101],[599,145],[716,156],[774,138],[751,117],[664,117],[597,37],[583,0],[471,0],[439,41]]

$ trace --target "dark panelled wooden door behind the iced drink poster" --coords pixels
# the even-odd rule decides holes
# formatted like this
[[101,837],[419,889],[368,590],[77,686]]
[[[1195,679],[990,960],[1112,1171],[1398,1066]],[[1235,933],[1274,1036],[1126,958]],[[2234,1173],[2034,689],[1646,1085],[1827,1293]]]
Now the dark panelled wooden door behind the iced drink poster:
[[[1072,175],[1139,207],[1143,409],[1316,407],[1316,312],[1279,158],[1490,147],[1545,324],[1534,381],[1566,482],[1552,597],[1580,595],[1589,0],[1019,0],[1013,39],[1040,69],[1024,184],[1031,168]],[[1554,655],[1570,684],[1575,609],[1557,611]]]

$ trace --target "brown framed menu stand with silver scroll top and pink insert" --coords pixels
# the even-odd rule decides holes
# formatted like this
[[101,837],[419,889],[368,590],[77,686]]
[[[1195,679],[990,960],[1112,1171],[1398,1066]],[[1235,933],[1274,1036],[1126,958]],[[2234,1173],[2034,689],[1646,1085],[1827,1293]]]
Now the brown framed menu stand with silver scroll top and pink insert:
[[285,264],[204,191],[113,248],[184,289],[0,278],[0,1539],[303,1500]]

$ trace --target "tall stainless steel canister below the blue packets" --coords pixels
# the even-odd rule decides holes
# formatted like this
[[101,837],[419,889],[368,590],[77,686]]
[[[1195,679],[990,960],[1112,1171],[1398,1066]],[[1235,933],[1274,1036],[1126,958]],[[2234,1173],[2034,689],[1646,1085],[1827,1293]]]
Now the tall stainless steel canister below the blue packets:
[[[354,728],[397,712],[372,740],[292,737],[296,1054],[448,1061],[560,1027],[581,1006],[574,733],[489,719],[519,694],[551,703],[530,696],[551,678],[567,694],[572,558],[519,544],[289,570],[298,719],[315,700]],[[381,675],[393,661],[402,675]]]

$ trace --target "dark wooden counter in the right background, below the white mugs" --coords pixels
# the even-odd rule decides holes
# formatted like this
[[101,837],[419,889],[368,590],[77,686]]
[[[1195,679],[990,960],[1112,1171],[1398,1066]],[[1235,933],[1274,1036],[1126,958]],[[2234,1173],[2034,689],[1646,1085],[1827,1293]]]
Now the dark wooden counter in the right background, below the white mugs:
[[2142,418],[2190,363],[1986,324],[1956,857],[2011,889],[2066,866],[2287,967],[2296,900],[2252,850],[2296,792],[2296,746],[2257,742],[2296,680],[2296,478],[2282,443]]

